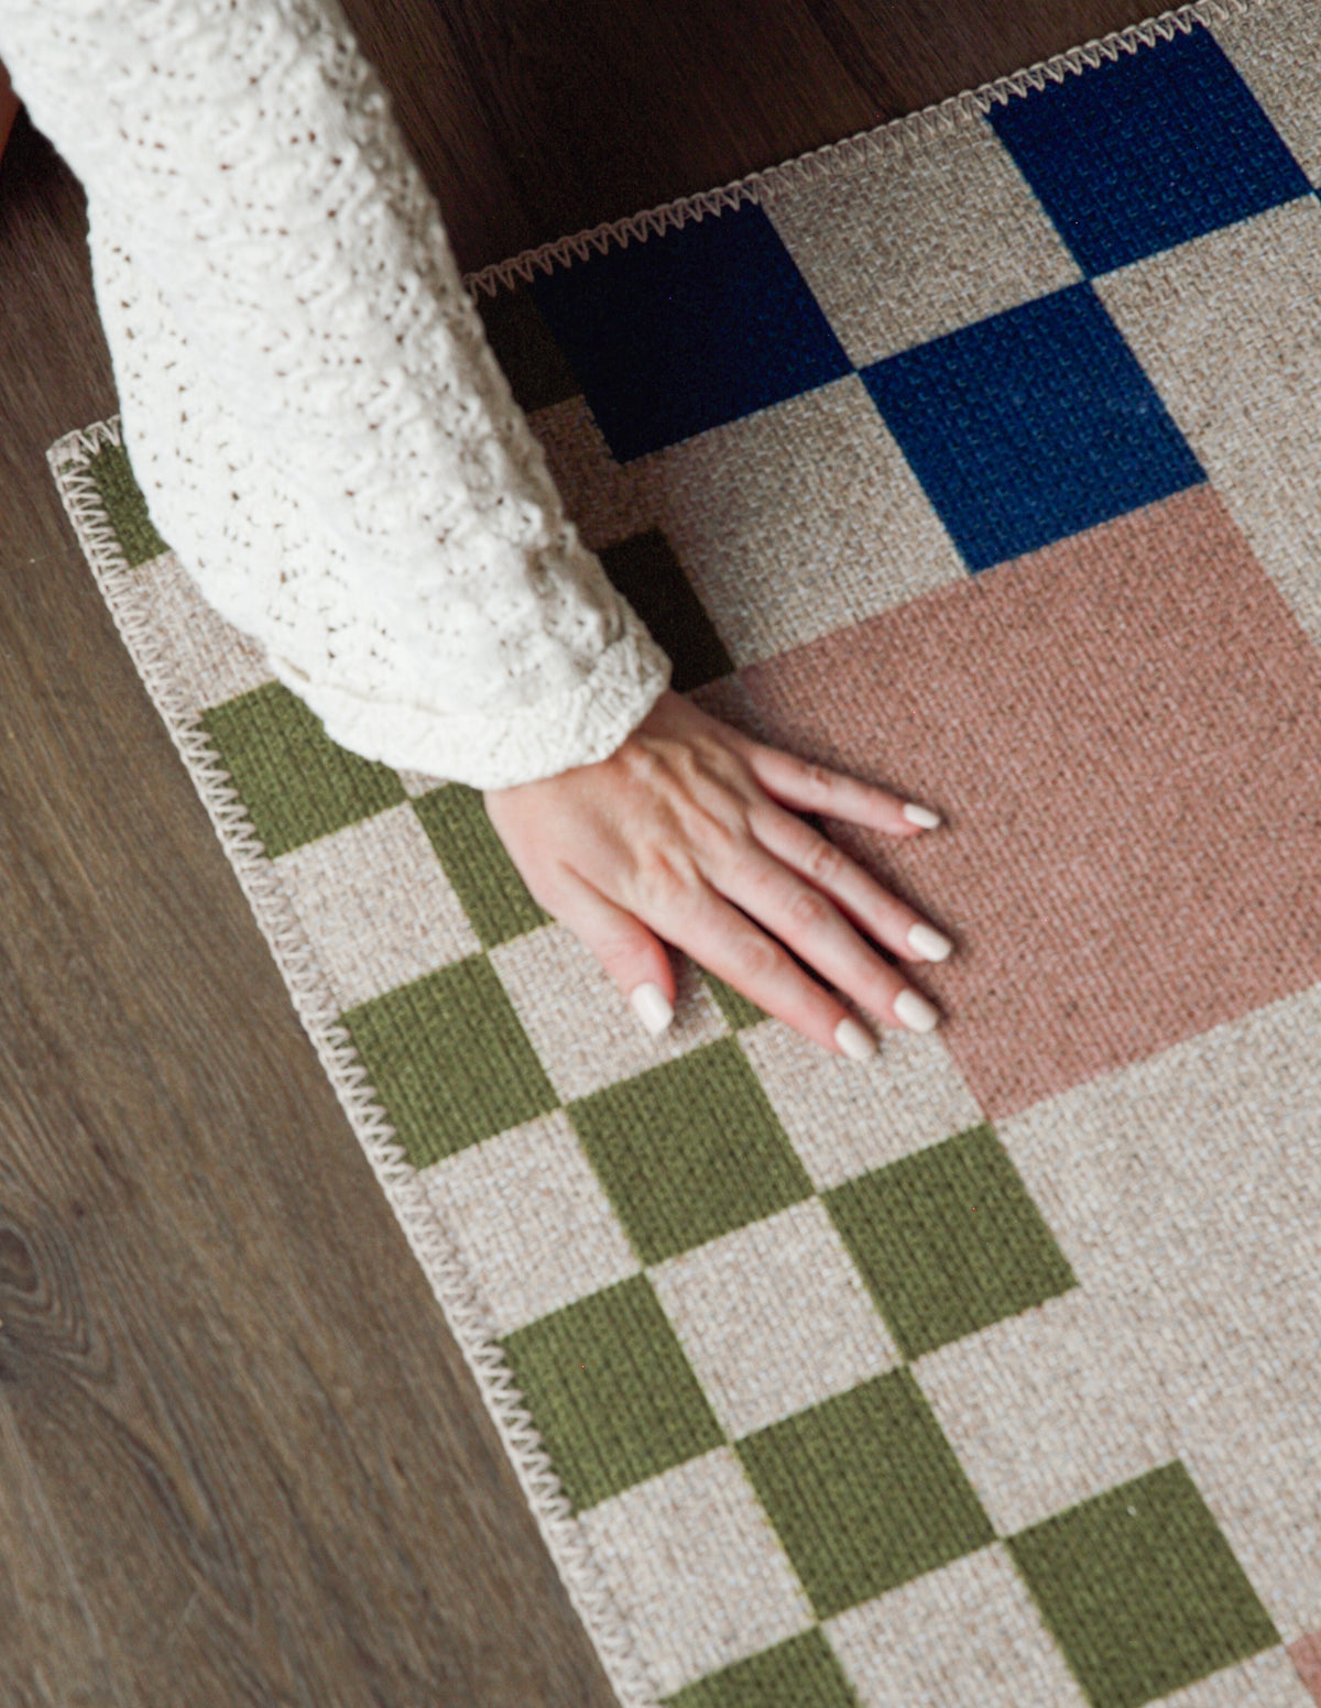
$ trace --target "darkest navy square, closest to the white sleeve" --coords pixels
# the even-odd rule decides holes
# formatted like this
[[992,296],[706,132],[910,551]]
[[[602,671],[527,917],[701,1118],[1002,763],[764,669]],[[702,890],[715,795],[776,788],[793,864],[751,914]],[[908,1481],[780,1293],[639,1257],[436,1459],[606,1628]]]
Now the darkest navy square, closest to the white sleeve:
[[853,366],[752,203],[612,246],[531,289],[620,463]]

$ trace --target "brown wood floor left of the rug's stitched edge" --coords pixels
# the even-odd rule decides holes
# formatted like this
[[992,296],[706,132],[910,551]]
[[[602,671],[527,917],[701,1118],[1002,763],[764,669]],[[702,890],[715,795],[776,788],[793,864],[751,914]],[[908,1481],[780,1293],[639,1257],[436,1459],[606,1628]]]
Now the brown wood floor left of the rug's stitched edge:
[[0,301],[0,1464],[44,1522],[0,1530],[0,1701],[603,1708],[51,502],[44,446],[114,400],[77,190],[24,120]]

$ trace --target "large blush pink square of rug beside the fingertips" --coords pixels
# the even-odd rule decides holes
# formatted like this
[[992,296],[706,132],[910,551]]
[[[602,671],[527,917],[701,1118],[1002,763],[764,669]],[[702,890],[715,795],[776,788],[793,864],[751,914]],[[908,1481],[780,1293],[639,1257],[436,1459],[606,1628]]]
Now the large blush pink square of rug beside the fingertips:
[[1321,654],[1210,487],[740,673],[749,733],[923,801],[834,842],[955,939],[991,1119],[1321,980]]

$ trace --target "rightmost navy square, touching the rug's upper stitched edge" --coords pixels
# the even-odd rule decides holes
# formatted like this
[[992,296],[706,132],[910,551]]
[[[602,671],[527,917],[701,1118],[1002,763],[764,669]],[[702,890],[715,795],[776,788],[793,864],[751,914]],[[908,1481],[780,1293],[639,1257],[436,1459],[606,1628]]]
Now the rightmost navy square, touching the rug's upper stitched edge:
[[1087,273],[1311,190],[1200,24],[1034,89],[988,120]]

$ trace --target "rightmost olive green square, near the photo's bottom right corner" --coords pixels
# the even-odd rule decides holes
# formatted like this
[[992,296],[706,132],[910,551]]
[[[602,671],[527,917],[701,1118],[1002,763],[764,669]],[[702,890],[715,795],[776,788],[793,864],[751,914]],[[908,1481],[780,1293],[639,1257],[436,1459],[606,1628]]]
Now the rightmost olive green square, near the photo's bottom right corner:
[[1177,1459],[1008,1549],[1092,1708],[1142,1708],[1280,1641]]

